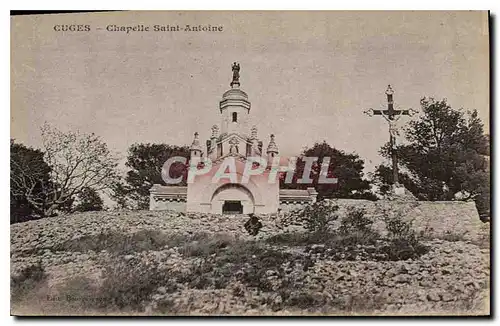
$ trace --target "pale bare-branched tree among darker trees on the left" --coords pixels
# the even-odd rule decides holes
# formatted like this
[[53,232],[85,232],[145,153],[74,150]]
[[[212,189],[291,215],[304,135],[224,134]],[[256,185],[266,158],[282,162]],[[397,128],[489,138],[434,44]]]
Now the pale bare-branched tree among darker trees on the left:
[[[17,189],[42,217],[70,210],[75,196],[86,188],[109,190],[117,180],[117,160],[95,134],[63,133],[46,124],[42,141],[50,178],[39,178],[43,170],[29,173],[29,165],[13,173]],[[41,194],[30,191],[37,184]]]

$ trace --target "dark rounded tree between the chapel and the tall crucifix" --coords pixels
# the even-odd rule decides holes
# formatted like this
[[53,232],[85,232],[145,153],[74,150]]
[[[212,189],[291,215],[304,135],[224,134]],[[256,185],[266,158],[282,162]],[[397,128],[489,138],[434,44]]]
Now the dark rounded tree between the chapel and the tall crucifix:
[[[317,157],[318,161],[312,166],[310,184],[297,182],[304,174],[305,157]],[[321,165],[325,157],[330,158],[330,167],[327,177],[337,178],[336,184],[322,184],[319,182]],[[318,199],[324,198],[358,198],[375,200],[376,196],[370,192],[370,183],[363,179],[364,161],[357,154],[348,154],[327,144],[315,143],[306,148],[297,160],[296,170],[292,183],[285,183],[285,174],[280,175],[280,187],[288,189],[306,189],[313,186],[318,192]]]

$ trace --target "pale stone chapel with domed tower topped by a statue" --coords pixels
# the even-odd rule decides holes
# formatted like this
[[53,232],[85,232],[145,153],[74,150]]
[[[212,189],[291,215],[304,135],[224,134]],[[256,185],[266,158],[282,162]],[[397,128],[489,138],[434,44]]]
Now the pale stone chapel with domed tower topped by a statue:
[[[209,159],[210,171],[196,175],[185,187],[155,184],[150,190],[150,210],[270,214],[316,201],[314,188],[280,189],[279,180],[272,178],[271,163],[279,154],[275,136],[269,135],[264,147],[257,126],[250,126],[251,103],[248,94],[241,89],[238,63],[232,64],[232,72],[230,88],[219,102],[219,124],[212,126],[205,146],[196,132],[190,147],[191,160]],[[242,180],[245,165],[254,157],[265,158],[267,166],[261,168],[261,173]],[[221,168],[221,165],[228,162],[234,162],[237,177],[214,178],[224,170],[225,166]]]

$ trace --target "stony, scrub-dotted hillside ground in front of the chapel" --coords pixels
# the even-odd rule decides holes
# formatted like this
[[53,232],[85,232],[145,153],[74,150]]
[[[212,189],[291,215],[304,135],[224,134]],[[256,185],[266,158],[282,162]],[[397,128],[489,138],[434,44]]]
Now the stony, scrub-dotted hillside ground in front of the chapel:
[[427,239],[427,253],[404,261],[343,259],[269,241],[300,229],[261,221],[257,236],[239,216],[149,211],[14,224],[12,313],[489,314],[484,241]]

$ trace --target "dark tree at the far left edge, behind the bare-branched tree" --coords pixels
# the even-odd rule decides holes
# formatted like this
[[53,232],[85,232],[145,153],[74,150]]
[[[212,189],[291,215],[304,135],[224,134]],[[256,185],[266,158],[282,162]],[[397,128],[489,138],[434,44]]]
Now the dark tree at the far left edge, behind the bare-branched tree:
[[43,217],[44,186],[50,180],[50,167],[38,149],[10,142],[10,222],[23,222]]

